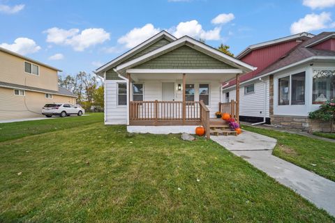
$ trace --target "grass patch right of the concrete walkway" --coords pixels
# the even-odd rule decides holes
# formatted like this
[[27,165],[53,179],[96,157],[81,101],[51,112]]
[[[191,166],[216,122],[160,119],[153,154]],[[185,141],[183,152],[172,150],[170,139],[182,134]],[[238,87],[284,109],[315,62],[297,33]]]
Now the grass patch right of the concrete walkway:
[[333,142],[251,126],[243,128],[277,139],[273,155],[335,181],[335,144]]

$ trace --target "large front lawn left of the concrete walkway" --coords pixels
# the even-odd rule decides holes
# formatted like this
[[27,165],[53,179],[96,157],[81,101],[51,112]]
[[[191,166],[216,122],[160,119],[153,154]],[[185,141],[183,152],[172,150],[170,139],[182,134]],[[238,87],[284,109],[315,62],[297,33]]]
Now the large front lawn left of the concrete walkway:
[[0,222],[335,221],[202,138],[101,121],[4,141],[0,153]]

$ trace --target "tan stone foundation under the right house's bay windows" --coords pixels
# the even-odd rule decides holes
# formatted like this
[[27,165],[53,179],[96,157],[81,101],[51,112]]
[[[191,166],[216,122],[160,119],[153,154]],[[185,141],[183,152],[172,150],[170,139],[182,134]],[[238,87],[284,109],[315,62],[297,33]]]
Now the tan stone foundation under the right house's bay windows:
[[[271,116],[271,125],[283,128],[295,128],[308,132],[330,132],[330,122],[313,120],[307,116]],[[335,126],[333,126],[335,131]]]

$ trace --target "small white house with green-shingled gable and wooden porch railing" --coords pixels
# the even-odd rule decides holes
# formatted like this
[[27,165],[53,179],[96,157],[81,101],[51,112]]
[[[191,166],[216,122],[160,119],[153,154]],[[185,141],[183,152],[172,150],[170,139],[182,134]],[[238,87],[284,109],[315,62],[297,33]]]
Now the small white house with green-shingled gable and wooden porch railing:
[[[221,83],[252,70],[198,40],[162,31],[96,70],[105,78],[105,124],[152,133],[209,128]],[[237,109],[238,103],[237,97]]]

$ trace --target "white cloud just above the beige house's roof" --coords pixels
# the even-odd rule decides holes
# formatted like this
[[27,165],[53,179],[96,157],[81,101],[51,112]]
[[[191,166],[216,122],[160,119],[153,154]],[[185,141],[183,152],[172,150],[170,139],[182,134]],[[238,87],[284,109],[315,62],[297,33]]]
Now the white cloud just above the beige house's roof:
[[36,45],[34,40],[24,37],[17,38],[13,44],[1,43],[0,47],[23,55],[32,54],[41,49],[40,46]]

